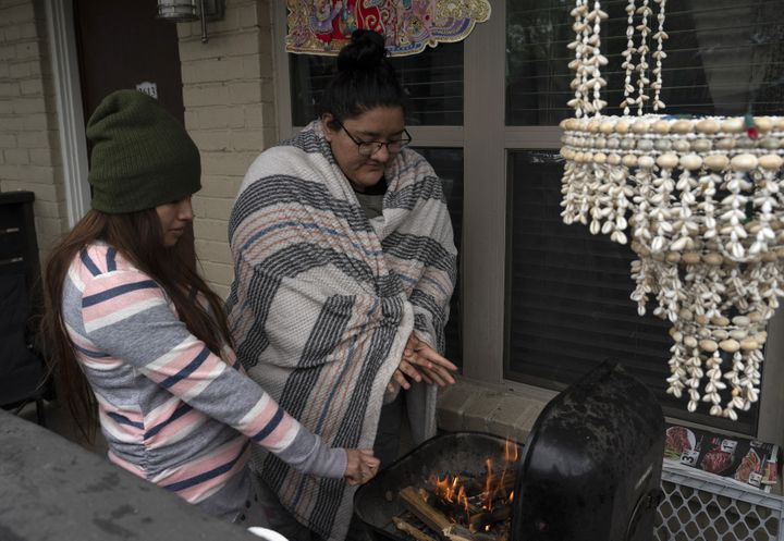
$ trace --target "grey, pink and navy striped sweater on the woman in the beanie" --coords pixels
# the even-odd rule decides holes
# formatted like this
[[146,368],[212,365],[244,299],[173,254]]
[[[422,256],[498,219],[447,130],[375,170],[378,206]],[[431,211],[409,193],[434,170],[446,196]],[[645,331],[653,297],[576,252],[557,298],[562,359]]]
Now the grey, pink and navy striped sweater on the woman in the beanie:
[[304,472],[343,477],[345,452],[290,417],[229,347],[210,352],[114,248],[82,250],[64,285],[63,318],[111,462],[228,518],[250,494],[252,443]]

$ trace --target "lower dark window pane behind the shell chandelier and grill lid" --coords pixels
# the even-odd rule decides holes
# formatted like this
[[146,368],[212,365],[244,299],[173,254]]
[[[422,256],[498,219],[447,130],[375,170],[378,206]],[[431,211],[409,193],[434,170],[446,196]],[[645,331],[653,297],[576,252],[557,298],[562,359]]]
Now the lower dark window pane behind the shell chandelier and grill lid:
[[758,405],[732,422],[686,410],[665,393],[670,324],[637,315],[628,246],[561,221],[563,160],[554,150],[509,158],[509,306],[505,377],[561,390],[591,368],[620,362],[656,393],[665,414],[754,433]]

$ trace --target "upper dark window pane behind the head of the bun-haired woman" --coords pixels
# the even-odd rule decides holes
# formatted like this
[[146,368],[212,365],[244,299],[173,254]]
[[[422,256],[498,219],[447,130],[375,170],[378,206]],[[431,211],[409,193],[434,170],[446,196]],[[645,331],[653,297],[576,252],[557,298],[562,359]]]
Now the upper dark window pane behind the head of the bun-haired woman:
[[[332,77],[335,57],[289,54],[292,123],[303,126],[318,112],[321,93]],[[394,57],[408,97],[408,125],[463,124],[463,42],[428,47],[419,54]]]

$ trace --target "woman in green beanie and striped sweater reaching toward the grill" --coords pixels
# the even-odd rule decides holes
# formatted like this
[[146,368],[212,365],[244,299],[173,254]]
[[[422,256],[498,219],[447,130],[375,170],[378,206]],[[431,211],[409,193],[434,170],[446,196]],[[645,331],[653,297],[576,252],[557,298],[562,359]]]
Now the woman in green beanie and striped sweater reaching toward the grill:
[[44,330],[88,439],[111,462],[205,512],[268,526],[248,460],[264,447],[304,476],[372,477],[369,450],[330,448],[252,381],[221,299],[187,263],[199,153],[182,125],[135,90],[87,124],[93,209],[46,267]]

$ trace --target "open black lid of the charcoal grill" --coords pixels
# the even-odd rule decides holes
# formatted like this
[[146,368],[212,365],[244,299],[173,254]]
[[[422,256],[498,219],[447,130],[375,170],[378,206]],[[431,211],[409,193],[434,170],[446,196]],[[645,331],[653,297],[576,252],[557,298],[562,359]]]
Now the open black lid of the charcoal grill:
[[650,540],[663,452],[653,394],[620,366],[599,366],[537,419],[517,472],[511,539]]

